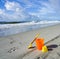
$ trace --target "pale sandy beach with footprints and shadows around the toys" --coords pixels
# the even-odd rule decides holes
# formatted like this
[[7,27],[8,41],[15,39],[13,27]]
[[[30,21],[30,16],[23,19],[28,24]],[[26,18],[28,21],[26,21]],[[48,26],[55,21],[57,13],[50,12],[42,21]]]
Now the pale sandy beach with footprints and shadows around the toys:
[[[27,48],[38,33],[49,49],[47,53]],[[0,59],[60,59],[60,24],[1,37]]]

